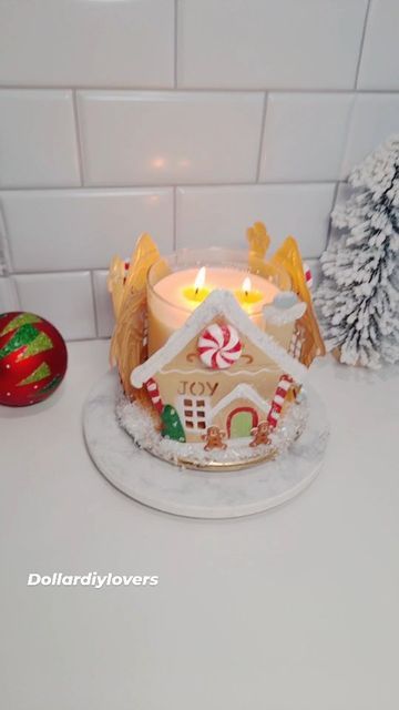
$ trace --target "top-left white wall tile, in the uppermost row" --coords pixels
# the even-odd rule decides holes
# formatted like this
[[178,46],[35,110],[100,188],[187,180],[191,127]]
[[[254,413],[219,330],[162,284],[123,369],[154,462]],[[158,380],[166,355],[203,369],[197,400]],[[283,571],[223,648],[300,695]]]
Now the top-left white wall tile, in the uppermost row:
[[173,0],[2,0],[0,83],[172,87]]

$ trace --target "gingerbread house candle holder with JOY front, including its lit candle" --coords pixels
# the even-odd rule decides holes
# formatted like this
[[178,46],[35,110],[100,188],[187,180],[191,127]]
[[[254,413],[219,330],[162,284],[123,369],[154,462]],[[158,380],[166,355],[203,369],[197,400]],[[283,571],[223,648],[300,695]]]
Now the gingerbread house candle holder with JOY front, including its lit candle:
[[146,234],[109,276],[116,326],[116,414],[135,443],[172,464],[244,468],[278,456],[306,426],[303,383],[324,344],[309,274],[287,237],[249,250],[161,256]]

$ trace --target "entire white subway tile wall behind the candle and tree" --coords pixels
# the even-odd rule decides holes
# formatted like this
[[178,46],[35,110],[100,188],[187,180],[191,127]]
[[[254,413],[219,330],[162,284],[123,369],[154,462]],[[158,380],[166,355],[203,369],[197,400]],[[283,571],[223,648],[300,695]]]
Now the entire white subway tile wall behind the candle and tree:
[[109,335],[142,231],[241,246],[263,220],[317,260],[399,131],[398,30],[398,0],[0,0],[0,312]]

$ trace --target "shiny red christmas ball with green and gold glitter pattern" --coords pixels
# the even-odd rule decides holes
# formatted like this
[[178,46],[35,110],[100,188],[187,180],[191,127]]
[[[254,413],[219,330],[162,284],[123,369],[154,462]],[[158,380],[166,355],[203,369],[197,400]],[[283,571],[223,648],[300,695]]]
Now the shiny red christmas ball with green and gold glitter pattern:
[[66,372],[66,346],[34,313],[0,314],[0,404],[23,407],[55,392]]

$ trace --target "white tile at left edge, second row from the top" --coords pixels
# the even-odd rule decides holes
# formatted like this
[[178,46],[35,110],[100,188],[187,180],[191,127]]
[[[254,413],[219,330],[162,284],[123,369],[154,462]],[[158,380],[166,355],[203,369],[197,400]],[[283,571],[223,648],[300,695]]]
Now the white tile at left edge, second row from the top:
[[80,184],[71,91],[0,91],[0,187]]

